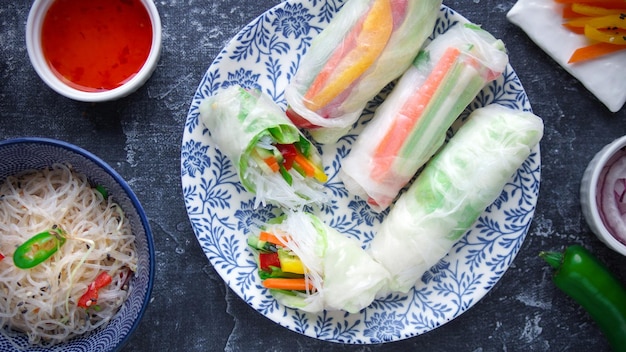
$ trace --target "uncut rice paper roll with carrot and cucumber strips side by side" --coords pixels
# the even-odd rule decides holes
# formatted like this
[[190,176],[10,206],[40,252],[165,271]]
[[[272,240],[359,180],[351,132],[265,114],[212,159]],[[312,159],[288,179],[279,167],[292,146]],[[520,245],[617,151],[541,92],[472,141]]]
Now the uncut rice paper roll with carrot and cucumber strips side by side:
[[504,43],[474,24],[430,42],[403,74],[342,163],[353,194],[383,211],[443,145],[446,131],[508,64]]

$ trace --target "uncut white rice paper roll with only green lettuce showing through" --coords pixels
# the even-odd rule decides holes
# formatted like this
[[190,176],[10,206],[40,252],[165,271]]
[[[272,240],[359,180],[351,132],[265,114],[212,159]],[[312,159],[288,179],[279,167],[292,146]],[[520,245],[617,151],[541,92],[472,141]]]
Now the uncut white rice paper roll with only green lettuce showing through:
[[390,291],[407,292],[442,259],[543,135],[530,112],[488,105],[475,110],[391,209],[370,253],[392,275]]

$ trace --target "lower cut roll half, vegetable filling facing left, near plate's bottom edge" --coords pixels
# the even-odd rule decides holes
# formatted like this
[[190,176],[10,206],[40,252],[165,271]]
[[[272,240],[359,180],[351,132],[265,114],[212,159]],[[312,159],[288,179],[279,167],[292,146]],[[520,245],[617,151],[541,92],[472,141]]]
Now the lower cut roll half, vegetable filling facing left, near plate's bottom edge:
[[302,211],[287,213],[248,237],[263,286],[276,300],[306,312],[356,313],[386,287],[389,273],[361,247]]

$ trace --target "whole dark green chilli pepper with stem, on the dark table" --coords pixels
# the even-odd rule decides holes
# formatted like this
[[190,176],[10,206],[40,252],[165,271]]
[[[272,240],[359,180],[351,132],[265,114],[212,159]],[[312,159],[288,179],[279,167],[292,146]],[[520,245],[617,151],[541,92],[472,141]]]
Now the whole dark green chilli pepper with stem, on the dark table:
[[556,269],[553,281],[595,320],[614,351],[626,351],[626,288],[588,250],[539,254]]

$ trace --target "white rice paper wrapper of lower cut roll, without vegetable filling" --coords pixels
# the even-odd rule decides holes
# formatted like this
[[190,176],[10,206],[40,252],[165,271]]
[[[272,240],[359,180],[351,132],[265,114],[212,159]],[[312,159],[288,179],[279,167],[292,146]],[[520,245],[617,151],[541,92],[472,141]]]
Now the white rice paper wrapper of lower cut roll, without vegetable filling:
[[268,231],[288,235],[287,247],[302,261],[306,277],[317,291],[297,296],[272,291],[283,305],[306,312],[345,310],[356,313],[369,306],[386,287],[389,273],[354,238],[340,234],[316,216],[289,212]]

